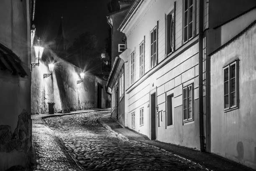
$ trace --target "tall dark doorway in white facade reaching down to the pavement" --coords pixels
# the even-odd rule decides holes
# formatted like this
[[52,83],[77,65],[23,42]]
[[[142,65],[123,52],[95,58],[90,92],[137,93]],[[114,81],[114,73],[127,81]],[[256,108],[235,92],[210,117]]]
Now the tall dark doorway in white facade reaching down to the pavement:
[[151,94],[151,140],[156,139],[156,92]]

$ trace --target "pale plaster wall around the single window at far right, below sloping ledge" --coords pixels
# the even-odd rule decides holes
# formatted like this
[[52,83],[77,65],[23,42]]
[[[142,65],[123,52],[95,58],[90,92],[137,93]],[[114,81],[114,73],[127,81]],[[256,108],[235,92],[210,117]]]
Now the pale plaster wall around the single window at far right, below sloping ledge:
[[[211,56],[211,152],[256,169],[256,25]],[[239,59],[239,108],[224,112],[223,67]]]

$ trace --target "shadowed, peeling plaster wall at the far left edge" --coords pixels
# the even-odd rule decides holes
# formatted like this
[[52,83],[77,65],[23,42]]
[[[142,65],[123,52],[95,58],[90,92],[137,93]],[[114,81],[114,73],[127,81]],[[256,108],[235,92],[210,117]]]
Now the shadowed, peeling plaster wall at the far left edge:
[[0,71],[0,171],[30,167],[30,13],[29,1],[1,0],[0,43],[12,50],[28,74],[24,78]]

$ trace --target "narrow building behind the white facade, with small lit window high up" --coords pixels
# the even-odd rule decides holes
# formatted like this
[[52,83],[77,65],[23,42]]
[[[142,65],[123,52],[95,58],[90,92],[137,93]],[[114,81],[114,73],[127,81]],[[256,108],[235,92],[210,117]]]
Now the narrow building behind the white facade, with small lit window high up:
[[111,27],[111,59],[112,69],[108,77],[107,87],[111,89],[111,116],[121,124],[125,124],[124,115],[124,61],[120,58],[126,49],[126,37],[124,33],[118,31],[118,26],[122,22],[125,14],[131,7],[132,1],[118,2],[119,9],[107,16],[107,21]]

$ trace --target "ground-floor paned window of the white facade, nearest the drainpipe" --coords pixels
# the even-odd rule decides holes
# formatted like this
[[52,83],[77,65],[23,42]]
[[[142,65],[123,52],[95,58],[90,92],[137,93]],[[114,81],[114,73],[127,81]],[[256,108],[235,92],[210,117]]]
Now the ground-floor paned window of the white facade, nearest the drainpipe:
[[183,122],[193,120],[193,84],[183,87]]

